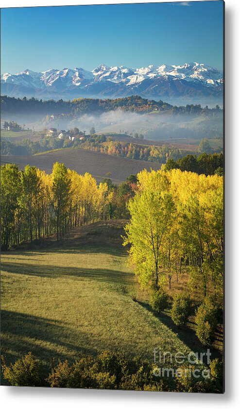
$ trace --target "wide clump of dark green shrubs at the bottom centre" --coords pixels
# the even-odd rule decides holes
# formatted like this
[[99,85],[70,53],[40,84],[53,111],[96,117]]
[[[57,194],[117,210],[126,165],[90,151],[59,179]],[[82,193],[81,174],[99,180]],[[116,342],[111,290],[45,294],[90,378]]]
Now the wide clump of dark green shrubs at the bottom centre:
[[97,357],[81,358],[70,365],[59,361],[47,379],[55,388],[98,388],[135,391],[168,390],[168,383],[154,376],[153,366],[140,358],[103,351]]

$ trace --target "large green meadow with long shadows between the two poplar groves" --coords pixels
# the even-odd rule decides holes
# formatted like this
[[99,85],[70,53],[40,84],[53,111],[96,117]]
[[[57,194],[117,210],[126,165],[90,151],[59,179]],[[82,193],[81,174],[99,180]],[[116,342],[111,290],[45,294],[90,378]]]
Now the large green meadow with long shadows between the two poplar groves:
[[32,351],[45,371],[53,356],[73,360],[105,349],[150,361],[154,347],[172,354],[205,351],[194,331],[177,328],[168,311],[154,314],[144,294],[132,300],[136,277],[120,239],[125,222],[76,228],[59,246],[48,239],[43,247],[2,253],[1,353],[7,362]]

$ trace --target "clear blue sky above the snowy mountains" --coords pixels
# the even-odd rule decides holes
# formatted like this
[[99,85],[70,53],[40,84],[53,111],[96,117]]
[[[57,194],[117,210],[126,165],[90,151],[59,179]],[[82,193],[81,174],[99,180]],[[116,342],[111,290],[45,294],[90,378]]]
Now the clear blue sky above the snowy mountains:
[[1,9],[1,73],[194,61],[223,69],[223,1]]

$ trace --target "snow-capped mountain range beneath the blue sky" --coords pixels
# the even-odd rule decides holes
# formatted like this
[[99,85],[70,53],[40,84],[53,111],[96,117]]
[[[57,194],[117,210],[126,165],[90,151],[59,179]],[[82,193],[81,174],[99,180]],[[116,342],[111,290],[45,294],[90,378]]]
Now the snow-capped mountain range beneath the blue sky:
[[75,97],[117,98],[140,95],[155,99],[222,99],[223,72],[205,64],[186,63],[142,68],[107,67],[30,69],[1,75],[1,95],[67,99]]

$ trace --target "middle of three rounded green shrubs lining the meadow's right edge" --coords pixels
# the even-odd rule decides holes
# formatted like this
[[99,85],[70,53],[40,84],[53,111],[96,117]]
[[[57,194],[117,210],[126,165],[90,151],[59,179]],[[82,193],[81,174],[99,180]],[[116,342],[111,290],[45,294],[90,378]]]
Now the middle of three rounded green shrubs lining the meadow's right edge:
[[176,325],[185,325],[190,315],[190,297],[186,292],[176,293],[171,307],[171,319]]

